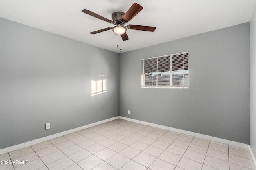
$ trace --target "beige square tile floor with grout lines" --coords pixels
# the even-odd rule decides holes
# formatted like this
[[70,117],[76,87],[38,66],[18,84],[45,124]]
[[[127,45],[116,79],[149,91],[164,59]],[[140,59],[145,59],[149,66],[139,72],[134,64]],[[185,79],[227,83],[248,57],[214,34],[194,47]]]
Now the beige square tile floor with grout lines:
[[0,170],[256,170],[248,149],[121,119],[2,154],[0,160],[18,160],[0,164]]

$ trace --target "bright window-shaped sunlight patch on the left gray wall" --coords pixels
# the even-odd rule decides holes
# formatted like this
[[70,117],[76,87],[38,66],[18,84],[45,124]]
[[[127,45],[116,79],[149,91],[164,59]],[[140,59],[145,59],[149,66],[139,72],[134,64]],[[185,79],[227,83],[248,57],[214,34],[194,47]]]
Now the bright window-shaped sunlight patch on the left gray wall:
[[91,96],[107,92],[107,79],[104,78],[105,76],[99,75],[97,76],[97,80],[91,80]]

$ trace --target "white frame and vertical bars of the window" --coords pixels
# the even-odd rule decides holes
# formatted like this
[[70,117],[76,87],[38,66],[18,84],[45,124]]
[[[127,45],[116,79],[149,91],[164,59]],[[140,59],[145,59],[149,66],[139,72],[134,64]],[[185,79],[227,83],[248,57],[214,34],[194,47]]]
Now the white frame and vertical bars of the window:
[[[180,72],[179,74],[183,74],[182,80],[180,80],[180,84],[179,85],[172,85],[172,75],[173,72],[172,71],[172,56],[175,55],[182,55],[182,54],[188,54],[188,51],[186,52],[182,52],[182,53],[174,53],[174,54],[170,54],[170,55],[163,55],[163,56],[158,56],[158,57],[151,57],[151,58],[146,58],[146,59],[142,59],[141,60],[141,88],[179,88],[179,89],[188,89],[188,70],[179,70],[178,72]],[[161,76],[163,75],[161,72],[158,72],[158,58],[165,58],[165,57],[170,57],[170,73],[166,72],[166,75],[170,75],[170,83],[168,85],[163,85],[163,83],[160,83],[160,85],[158,85],[158,75],[160,74]],[[144,74],[144,61],[148,60],[148,59],[156,59],[156,65],[157,68],[156,72],[154,72],[153,74],[155,74],[154,76],[156,76],[156,84],[154,85],[146,85],[146,75]],[[177,72],[177,71],[176,71]],[[153,75],[152,75],[153,76]],[[153,77],[152,77],[153,79]],[[163,80],[163,78],[162,78]],[[186,80],[186,81],[184,81]],[[163,81],[162,81],[163,82]],[[184,83],[185,82],[185,83]]]

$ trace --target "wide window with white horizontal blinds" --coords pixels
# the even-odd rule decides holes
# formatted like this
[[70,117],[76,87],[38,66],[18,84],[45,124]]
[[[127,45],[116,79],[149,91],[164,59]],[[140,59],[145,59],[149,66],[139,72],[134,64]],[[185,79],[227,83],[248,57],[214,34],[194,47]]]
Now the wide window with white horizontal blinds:
[[142,59],[142,88],[188,88],[188,52]]

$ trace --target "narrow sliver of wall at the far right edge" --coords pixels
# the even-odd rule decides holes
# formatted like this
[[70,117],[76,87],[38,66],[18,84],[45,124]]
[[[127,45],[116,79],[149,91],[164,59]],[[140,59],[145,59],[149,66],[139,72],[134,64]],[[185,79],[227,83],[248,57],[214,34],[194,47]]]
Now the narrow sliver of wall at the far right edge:
[[250,146],[256,155],[256,10],[250,22]]

